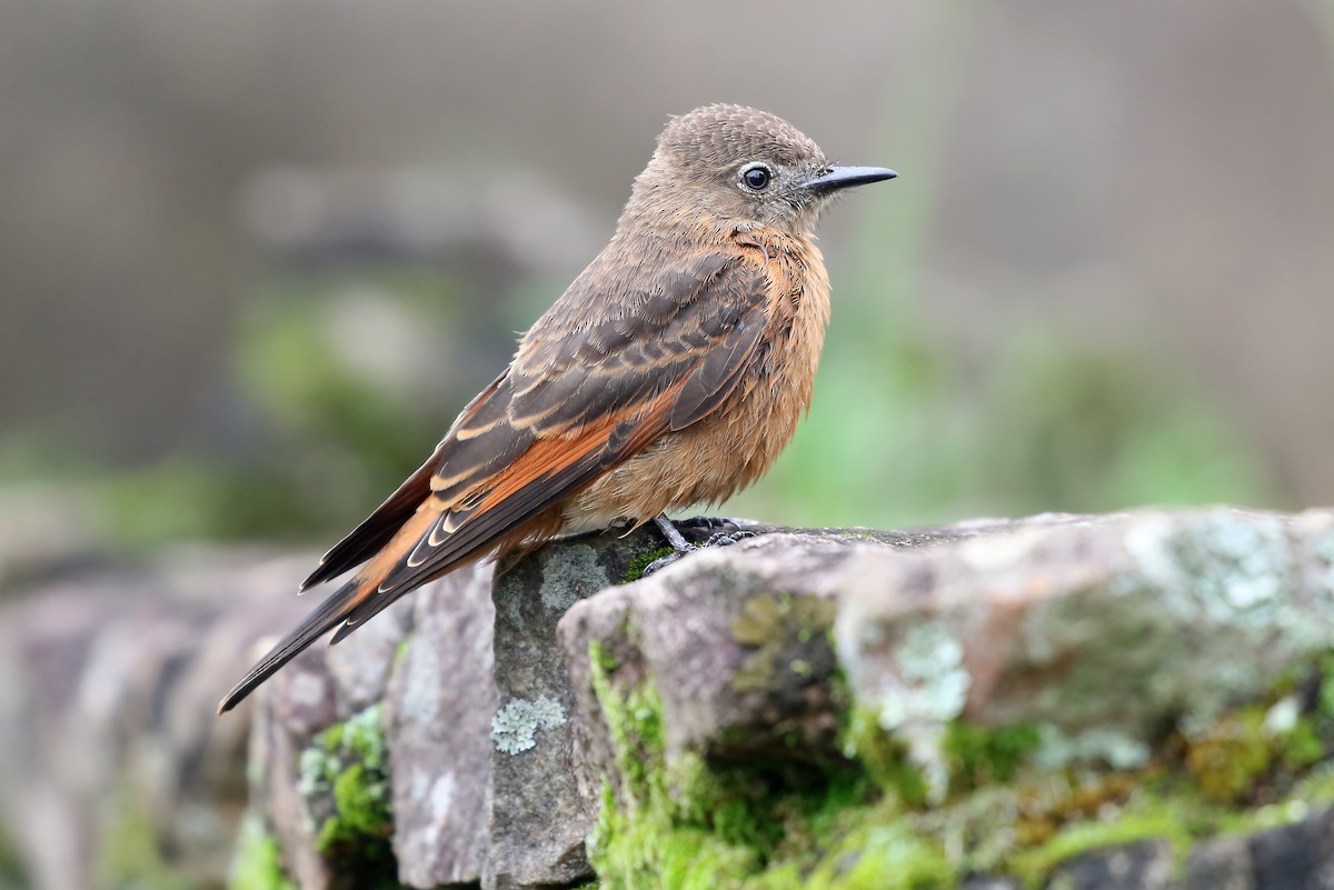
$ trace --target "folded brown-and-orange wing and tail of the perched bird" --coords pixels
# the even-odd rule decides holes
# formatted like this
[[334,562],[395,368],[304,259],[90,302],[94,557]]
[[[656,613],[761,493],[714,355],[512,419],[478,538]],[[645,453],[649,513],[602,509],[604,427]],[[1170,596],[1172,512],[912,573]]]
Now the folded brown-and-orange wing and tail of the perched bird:
[[[622,297],[608,300],[608,292]],[[308,584],[374,554],[370,562],[277,644],[220,710],[331,628],[343,625],[338,642],[414,588],[522,534],[664,433],[708,416],[755,353],[768,322],[767,294],[764,269],[736,256],[704,254],[651,274],[590,266],[534,325],[510,369],[464,409],[431,461],[329,550]]]

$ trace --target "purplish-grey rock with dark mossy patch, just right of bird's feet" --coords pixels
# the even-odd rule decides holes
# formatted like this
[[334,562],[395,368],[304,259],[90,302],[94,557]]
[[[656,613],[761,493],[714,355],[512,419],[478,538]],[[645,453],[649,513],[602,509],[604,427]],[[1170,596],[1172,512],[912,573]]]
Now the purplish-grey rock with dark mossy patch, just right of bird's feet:
[[[579,709],[596,723],[594,650],[624,682],[652,677],[667,750],[751,758],[830,749],[840,706],[827,630],[838,588],[831,568],[891,545],[847,533],[766,534],[712,548],[583,601],[560,624]],[[592,738],[606,738],[594,726]],[[611,751],[591,747],[592,773]],[[586,779],[592,786],[596,782]]]

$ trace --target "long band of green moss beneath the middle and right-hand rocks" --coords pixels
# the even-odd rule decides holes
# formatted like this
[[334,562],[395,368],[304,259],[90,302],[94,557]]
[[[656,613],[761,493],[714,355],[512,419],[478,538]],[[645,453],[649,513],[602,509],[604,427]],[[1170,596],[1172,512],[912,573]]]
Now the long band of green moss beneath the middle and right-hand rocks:
[[[1307,763],[1291,794],[1270,806],[1238,809],[1230,790],[1206,791],[1170,763],[1185,761],[1185,747],[1169,746],[1138,770],[1041,771],[1030,762],[1035,727],[955,723],[942,742],[951,795],[928,807],[920,775],[870,711],[854,710],[844,731],[851,769],[668,757],[656,697],[618,687],[606,656],[595,653],[595,662],[599,701],[620,727],[618,747],[628,743],[618,750],[618,781],[635,791],[618,795],[612,782],[604,794],[592,859],[606,887],[926,889],[956,886],[968,873],[1037,887],[1090,851],[1154,839],[1183,863],[1201,838],[1293,822],[1334,801],[1334,766],[1309,769],[1319,738],[1310,721],[1287,727],[1273,707],[1255,706],[1222,722],[1253,727],[1247,745],[1265,739],[1266,787],[1278,787],[1287,769],[1281,751]],[[1234,730],[1219,731],[1230,738]],[[1254,777],[1258,767],[1238,769]]]

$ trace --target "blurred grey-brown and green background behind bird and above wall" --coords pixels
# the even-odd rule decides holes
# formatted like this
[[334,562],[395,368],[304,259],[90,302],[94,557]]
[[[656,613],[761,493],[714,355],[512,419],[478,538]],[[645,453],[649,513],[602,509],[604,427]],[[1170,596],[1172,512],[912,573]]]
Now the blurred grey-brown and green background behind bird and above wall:
[[1331,47],[1329,0],[9,0],[0,588],[331,544],[714,101],[900,173],[827,215],[814,409],[722,512],[1331,504]]

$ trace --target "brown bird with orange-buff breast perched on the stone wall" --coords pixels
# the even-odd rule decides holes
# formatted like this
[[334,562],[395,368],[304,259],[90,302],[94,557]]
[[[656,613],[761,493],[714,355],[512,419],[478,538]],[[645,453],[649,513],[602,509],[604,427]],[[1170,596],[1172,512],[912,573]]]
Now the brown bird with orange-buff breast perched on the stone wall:
[[656,522],[759,478],[811,404],[830,317],[816,219],[894,179],[831,163],[786,120],[715,104],[671,117],[611,241],[519,340],[431,457],[339,541],[304,592],[356,569],[221,699],[346,638],[468,562]]

